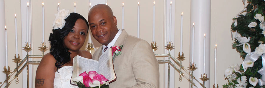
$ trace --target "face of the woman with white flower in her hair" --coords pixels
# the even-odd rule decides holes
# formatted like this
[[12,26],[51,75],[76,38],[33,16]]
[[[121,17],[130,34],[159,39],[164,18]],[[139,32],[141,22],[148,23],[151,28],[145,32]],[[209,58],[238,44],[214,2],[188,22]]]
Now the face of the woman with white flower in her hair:
[[85,43],[87,31],[85,21],[77,19],[74,28],[69,31],[69,34],[64,39],[65,47],[69,48],[69,51],[78,51]]

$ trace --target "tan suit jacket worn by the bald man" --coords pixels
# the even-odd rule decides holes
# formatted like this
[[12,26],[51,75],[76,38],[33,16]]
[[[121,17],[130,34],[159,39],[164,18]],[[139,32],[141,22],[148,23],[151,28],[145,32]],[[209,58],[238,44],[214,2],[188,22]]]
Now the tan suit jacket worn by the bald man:
[[[149,43],[122,30],[114,46],[120,45],[122,54],[113,61],[117,79],[110,83],[110,88],[158,88],[158,62]],[[92,59],[98,60],[101,54],[102,46]]]

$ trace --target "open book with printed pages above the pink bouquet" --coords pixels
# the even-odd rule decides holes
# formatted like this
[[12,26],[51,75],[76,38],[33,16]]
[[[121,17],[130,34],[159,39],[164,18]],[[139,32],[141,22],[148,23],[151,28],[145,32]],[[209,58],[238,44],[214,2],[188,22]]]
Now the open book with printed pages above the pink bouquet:
[[98,61],[77,55],[76,57],[74,57],[73,63],[71,84],[76,85],[77,83],[73,82],[72,79],[78,77],[85,71],[96,71],[98,74],[104,75],[107,79],[109,79],[109,83],[116,80],[112,62],[112,48],[109,48],[104,53],[102,53]]

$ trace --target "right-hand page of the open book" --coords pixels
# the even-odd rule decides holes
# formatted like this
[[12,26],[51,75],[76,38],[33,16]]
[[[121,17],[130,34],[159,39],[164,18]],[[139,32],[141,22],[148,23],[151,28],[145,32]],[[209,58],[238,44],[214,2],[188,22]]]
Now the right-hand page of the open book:
[[109,81],[112,81],[115,76],[112,63],[112,48],[109,48],[104,53],[102,53],[98,62],[98,74],[104,75],[107,79],[109,79]]

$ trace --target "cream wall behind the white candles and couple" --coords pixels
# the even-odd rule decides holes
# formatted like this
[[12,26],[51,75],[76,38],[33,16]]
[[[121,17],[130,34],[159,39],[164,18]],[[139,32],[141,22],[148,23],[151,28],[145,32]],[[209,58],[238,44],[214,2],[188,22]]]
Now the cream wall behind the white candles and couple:
[[[88,13],[88,0],[72,0],[72,1],[62,1],[62,0],[32,0],[32,38],[33,41],[33,54],[39,55],[42,52],[39,50],[39,46],[42,38],[42,20],[41,20],[41,8],[42,2],[45,6],[45,42],[49,49],[50,45],[48,42],[49,33],[52,32],[52,21],[54,20],[54,14],[57,13],[57,4],[60,2],[60,9],[68,9],[69,12],[73,12],[74,2],[76,2],[77,13],[80,13],[82,16],[87,18]],[[137,36],[137,2],[132,0],[115,0],[108,1],[108,5],[112,8],[114,15],[117,18],[117,27],[121,28],[121,7],[122,2],[125,6],[125,30],[129,35]],[[147,40],[148,43],[152,41],[152,7],[153,0],[139,0],[140,2],[140,38]],[[229,2],[229,3],[228,3]],[[183,66],[188,69],[188,59],[189,59],[189,23],[190,23],[190,0],[178,0],[175,1],[175,56],[179,52],[180,43],[180,16],[183,12],[184,24],[183,24],[183,52],[187,60],[183,61]],[[157,54],[164,53],[164,43],[163,43],[163,34],[164,34],[164,0],[155,0],[156,6],[156,19],[155,19],[155,39],[157,42],[158,50],[155,51]],[[26,7],[25,7],[26,8]],[[213,60],[213,49],[214,45],[217,44],[218,52],[218,65],[217,65],[217,82],[219,86],[226,83],[224,80],[224,71],[233,64],[241,64],[242,60],[239,54],[235,49],[232,49],[231,43],[233,43],[230,34],[230,26],[232,18],[243,9],[241,0],[223,0],[223,1],[211,1],[211,74],[210,85],[213,85],[214,82],[214,60]],[[15,68],[15,63],[11,59],[14,59],[15,54],[15,38],[14,38],[14,13],[17,14],[18,21],[18,36],[21,36],[21,15],[20,15],[20,0],[5,0],[5,16],[6,16],[6,26],[8,28],[8,57],[9,65],[11,70]],[[173,30],[173,29],[172,29]],[[21,37],[18,38],[18,47],[19,54],[21,55],[22,47]],[[87,38],[88,40],[88,38]],[[99,47],[99,43],[93,39],[93,43],[96,47]],[[82,47],[83,50],[87,47],[87,41]],[[49,53],[49,50],[45,51],[45,54]],[[22,58],[22,57],[21,57]],[[157,58],[158,60],[164,60],[164,58]],[[34,58],[36,61],[40,61],[39,58]],[[34,77],[35,70],[38,65],[33,65]],[[164,65],[159,65],[160,69],[160,88],[163,88],[164,85]],[[11,88],[21,87],[22,77],[19,75],[19,83],[12,83]],[[175,87],[186,88],[188,87],[188,81],[183,78],[182,82],[178,80],[179,74],[175,71]],[[33,78],[35,79],[35,78]],[[2,80],[0,80],[1,82]]]

